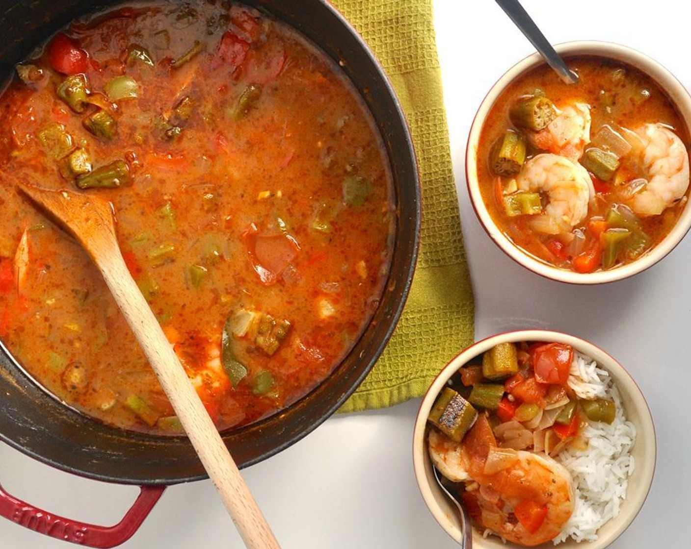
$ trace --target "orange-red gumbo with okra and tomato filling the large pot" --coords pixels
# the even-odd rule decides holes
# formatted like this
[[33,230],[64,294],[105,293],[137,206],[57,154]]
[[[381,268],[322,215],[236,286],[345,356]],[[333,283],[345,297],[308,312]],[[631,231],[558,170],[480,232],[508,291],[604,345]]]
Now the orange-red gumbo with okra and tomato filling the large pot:
[[77,410],[180,432],[97,269],[18,182],[112,202],[220,430],[310,392],[377,308],[395,226],[381,137],[283,23],[223,2],[75,21],[17,66],[0,108],[0,337]]

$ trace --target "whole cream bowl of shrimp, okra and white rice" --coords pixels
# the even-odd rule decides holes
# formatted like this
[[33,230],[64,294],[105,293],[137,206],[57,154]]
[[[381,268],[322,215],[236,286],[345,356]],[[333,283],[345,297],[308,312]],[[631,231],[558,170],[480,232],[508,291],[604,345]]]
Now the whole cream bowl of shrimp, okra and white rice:
[[413,465],[433,517],[455,540],[455,492],[480,549],[602,549],[632,523],[656,460],[650,410],[612,356],[557,331],[491,336],[430,385]]

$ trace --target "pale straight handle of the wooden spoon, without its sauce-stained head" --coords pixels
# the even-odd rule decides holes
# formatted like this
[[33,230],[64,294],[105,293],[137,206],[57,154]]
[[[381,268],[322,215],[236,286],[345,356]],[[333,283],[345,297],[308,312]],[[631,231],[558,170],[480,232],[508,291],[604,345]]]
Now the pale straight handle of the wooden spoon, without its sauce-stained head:
[[[214,422],[184,372],[149,304],[135,284],[117,240],[91,242],[92,257],[111,289],[117,305],[137,336],[182,427],[214,482],[245,545],[250,549],[279,548],[254,497],[223,443]],[[109,242],[108,240],[113,240]]]

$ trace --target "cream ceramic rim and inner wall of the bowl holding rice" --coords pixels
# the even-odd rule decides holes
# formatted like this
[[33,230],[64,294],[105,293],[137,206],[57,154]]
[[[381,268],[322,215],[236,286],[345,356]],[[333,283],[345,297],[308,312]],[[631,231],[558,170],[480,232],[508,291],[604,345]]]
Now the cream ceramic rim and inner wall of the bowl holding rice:
[[[580,351],[580,353],[594,358],[601,367],[607,369],[619,389],[625,407],[626,418],[636,427],[636,441],[632,448],[635,467],[633,474],[629,477],[626,498],[621,505],[621,511],[617,517],[605,523],[598,530],[597,541],[576,543],[576,541],[569,539],[557,546],[563,549],[603,549],[626,530],[636,517],[636,514],[638,514],[638,511],[641,510],[643,502],[647,497],[655,469],[655,430],[650,410],[645,402],[645,398],[643,398],[643,394],[641,394],[641,389],[638,389],[638,385],[636,385],[630,374],[605,351],[574,336],[545,330],[510,331],[505,334],[498,334],[471,345],[471,347],[468,347],[453,358],[439,372],[439,375],[433,381],[422,400],[422,405],[420,405],[415,421],[415,431],[413,432],[413,465],[422,497],[439,526],[442,526],[453,539],[460,540],[461,531],[460,521],[457,519],[458,511],[437,486],[428,457],[426,445],[427,416],[437,394],[439,394],[448,379],[460,367],[468,363],[472,358],[480,356],[480,354],[497,343],[507,341],[553,341],[567,343],[577,351]],[[518,547],[514,543],[502,543],[501,539],[496,536],[483,538],[482,534],[473,529],[473,549],[515,549]],[[553,547],[553,544],[549,542],[540,547]]]

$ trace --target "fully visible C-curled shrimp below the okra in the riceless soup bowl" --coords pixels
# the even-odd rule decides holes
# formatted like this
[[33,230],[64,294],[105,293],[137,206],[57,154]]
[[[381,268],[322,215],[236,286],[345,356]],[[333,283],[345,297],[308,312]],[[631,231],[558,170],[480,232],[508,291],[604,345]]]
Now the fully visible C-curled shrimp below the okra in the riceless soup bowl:
[[559,234],[576,227],[588,213],[588,204],[595,195],[593,182],[580,164],[552,153],[528,160],[516,177],[520,191],[547,195],[543,213],[533,216],[535,231]]

